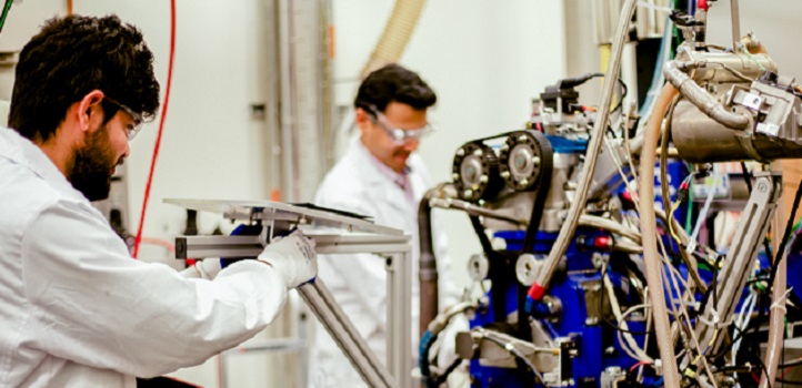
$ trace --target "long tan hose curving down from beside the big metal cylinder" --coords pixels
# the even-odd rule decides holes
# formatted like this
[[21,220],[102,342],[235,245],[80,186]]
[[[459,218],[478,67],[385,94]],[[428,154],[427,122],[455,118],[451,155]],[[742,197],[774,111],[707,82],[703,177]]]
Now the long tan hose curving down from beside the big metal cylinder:
[[[663,91],[654,103],[654,110],[646,125],[641,150],[641,176],[640,176],[640,213],[641,213],[641,238],[643,242],[643,259],[646,265],[646,283],[649,289],[664,289],[660,276],[662,264],[658,253],[656,241],[656,217],[654,214],[654,162],[656,160],[656,147],[660,139],[660,127],[663,116],[669,110],[671,100],[679,93],[674,86],[666,83]],[[663,293],[649,293],[652,303],[652,315],[654,317],[654,329],[660,347],[660,359],[663,363],[663,377],[666,387],[680,387],[680,376],[674,357],[674,347],[671,340],[671,324],[669,313],[665,308],[665,295]]]

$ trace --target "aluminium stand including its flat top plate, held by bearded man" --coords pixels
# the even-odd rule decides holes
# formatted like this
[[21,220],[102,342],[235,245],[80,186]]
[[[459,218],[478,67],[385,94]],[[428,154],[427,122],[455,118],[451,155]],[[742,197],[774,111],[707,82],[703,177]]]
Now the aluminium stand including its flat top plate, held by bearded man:
[[[400,388],[412,386],[411,284],[412,255],[410,236],[402,231],[374,225],[364,218],[332,213],[319,207],[295,206],[274,202],[168,201],[177,205],[221,213],[225,217],[262,223],[258,236],[181,236],[176,239],[177,258],[257,257],[272,237],[298,225],[323,225],[368,234],[304,234],[315,242],[318,254],[371,253],[388,255],[388,359],[382,365],[351,320],[334,300],[322,279],[298,287],[303,300],[325,330],[331,334],[351,365],[371,387]],[[270,231],[267,231],[270,229]],[[392,372],[390,372],[392,371]]]

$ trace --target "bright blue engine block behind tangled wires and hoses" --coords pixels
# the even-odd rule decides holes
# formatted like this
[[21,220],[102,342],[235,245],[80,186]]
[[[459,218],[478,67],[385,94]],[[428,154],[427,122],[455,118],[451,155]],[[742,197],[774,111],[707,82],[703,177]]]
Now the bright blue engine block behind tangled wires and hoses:
[[[583,151],[587,144],[579,144],[577,142],[565,142],[561,139],[551,139],[550,142],[557,141],[560,151],[571,153]],[[688,169],[681,162],[670,162],[668,165],[668,176],[670,185],[671,201],[676,198],[676,190],[680,183],[688,176]],[[655,174],[655,188],[658,196],[655,203],[662,206],[662,198],[660,197],[660,181]],[[624,182],[622,182],[619,175],[615,175],[609,187],[613,187],[612,194],[622,195],[625,190]],[[622,195],[626,197],[626,195]],[[681,223],[684,223],[686,217],[686,204],[682,206],[674,214]],[[554,242],[557,241],[557,233],[538,232],[535,238],[534,252],[532,254],[538,258],[544,258],[552,249]],[[507,243],[507,251],[509,252],[521,252],[525,232],[523,231],[509,231],[509,232],[497,232],[495,237],[503,238]],[[550,331],[552,338],[574,336],[579,340],[579,357],[572,359],[573,380],[574,385],[569,387],[598,387],[599,379],[602,370],[610,366],[618,366],[621,368],[629,368],[635,365],[636,360],[628,356],[622,349],[619,343],[619,336],[614,325],[616,323],[605,323],[603,312],[609,309],[606,306],[602,306],[602,302],[605,298],[601,296],[606,293],[603,288],[602,272],[601,268],[597,267],[593,263],[594,255],[608,255],[609,251],[604,246],[605,244],[597,244],[597,242],[603,238],[611,238],[611,236],[604,232],[594,228],[582,228],[580,227],[571,244],[569,245],[565,253],[564,273],[565,276],[561,276],[552,280],[549,288],[549,295],[558,298],[562,304],[562,314],[559,319],[548,319],[538,317],[538,312],[542,312],[544,306],[534,306],[534,316],[539,319],[544,328]],[[669,249],[674,251],[676,247],[669,236],[664,236],[664,242],[669,245]],[[491,266],[493,263],[491,263]],[[680,265],[681,270],[684,273],[684,266]],[[685,274],[683,274],[683,277]],[[705,280],[710,280],[710,273],[706,273]],[[643,300],[634,300],[636,293],[630,293],[628,279],[622,274],[615,270],[608,270],[608,276],[613,284],[616,296],[622,306],[634,306],[643,303]],[[514,278],[514,275],[513,275]],[[497,286],[497,285],[493,285]],[[495,295],[503,295],[504,312],[509,316],[518,312],[520,306],[518,292],[518,284],[502,285],[505,287],[503,293],[495,292]],[[593,289],[595,287],[595,289]],[[597,293],[599,295],[588,295],[589,293]],[[470,321],[471,328],[477,326],[488,326],[493,323],[505,321],[504,317],[494,316],[492,293],[488,294],[489,306],[485,309],[478,312],[474,318]],[[699,295],[699,298],[702,296]],[[600,300],[599,306],[589,306],[587,300]],[[589,312],[593,312],[594,316],[589,316]],[[599,312],[602,312],[601,314]],[[522,313],[522,312],[521,312]],[[601,318],[600,318],[601,317]],[[628,320],[629,329],[635,334],[633,337],[639,346],[643,346],[645,336],[642,333],[645,330],[645,321],[642,319],[630,319]],[[473,377],[473,387],[531,387],[533,377],[522,375],[521,370],[518,369],[505,369],[498,367],[482,366],[480,360],[471,360],[470,372]],[[649,379],[646,379],[649,382]],[[540,386],[540,385],[539,385]]]

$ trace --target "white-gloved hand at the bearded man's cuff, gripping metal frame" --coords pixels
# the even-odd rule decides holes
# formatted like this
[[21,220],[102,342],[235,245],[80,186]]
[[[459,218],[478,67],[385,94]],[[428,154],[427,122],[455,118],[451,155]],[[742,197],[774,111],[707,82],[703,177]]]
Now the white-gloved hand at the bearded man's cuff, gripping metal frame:
[[318,275],[314,241],[300,231],[274,238],[257,258],[275,268],[288,288],[295,288]]

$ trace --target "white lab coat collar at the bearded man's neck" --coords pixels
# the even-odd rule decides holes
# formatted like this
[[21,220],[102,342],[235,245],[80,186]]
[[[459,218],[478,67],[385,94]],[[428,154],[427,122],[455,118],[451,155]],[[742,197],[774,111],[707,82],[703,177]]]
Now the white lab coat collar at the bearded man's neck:
[[69,197],[86,201],[39,146],[4,126],[0,126],[0,157],[27,167]]

